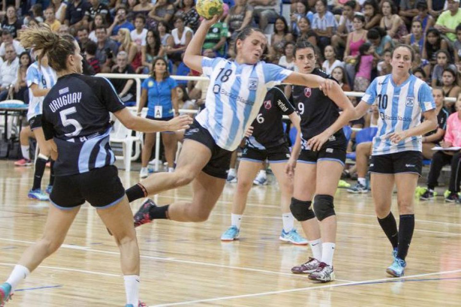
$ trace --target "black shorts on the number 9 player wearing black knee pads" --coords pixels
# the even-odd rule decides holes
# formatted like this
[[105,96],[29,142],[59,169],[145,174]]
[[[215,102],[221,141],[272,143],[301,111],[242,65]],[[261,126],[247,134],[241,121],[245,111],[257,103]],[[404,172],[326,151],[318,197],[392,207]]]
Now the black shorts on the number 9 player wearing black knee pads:
[[302,141],[302,150],[298,157],[298,162],[316,164],[317,161],[336,161],[344,165],[346,162],[347,142],[343,133],[338,133],[320,148],[319,151],[307,149],[307,142]]

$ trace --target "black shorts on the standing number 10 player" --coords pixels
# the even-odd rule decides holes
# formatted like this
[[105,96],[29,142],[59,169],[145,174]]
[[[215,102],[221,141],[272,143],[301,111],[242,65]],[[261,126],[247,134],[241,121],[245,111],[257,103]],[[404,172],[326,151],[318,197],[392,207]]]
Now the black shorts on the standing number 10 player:
[[414,173],[421,176],[423,154],[420,151],[401,151],[372,156],[370,173],[399,174]]

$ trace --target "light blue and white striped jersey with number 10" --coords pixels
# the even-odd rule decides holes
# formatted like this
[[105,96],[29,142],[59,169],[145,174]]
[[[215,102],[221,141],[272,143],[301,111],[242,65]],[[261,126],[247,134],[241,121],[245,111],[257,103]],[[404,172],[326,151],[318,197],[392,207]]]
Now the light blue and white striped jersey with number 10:
[[422,151],[421,136],[413,136],[394,144],[388,139],[393,132],[420,125],[421,113],[435,109],[431,88],[426,82],[410,75],[396,86],[392,75],[375,78],[362,97],[367,104],[378,100],[378,133],[373,139],[373,156],[401,151]]

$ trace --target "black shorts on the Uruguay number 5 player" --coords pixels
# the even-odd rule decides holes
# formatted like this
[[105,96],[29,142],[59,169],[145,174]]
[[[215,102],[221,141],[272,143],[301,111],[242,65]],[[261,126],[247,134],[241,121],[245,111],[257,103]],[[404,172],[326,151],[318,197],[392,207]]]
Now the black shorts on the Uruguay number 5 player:
[[125,189],[118,178],[118,170],[109,165],[89,172],[68,176],[56,176],[50,201],[59,209],[72,209],[88,201],[98,209],[119,203]]

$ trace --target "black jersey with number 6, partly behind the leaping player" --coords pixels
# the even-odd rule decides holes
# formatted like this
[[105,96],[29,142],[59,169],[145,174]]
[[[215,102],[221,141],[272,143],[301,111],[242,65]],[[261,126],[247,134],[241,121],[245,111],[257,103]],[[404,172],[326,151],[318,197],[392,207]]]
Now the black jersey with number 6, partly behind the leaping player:
[[284,144],[287,140],[282,125],[282,116],[295,112],[284,93],[272,87],[264,97],[258,116],[254,119],[253,134],[247,139],[247,146],[267,149]]

